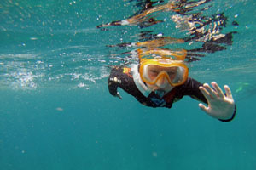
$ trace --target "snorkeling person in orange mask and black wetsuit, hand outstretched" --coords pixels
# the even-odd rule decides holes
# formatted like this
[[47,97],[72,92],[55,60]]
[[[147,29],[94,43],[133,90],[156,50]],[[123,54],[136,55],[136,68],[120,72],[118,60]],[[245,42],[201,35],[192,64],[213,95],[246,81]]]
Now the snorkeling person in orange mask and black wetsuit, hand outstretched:
[[225,85],[226,94],[212,82],[201,84],[188,77],[189,69],[182,58],[156,57],[140,59],[138,65],[113,67],[108,77],[109,93],[122,99],[118,88],[134,96],[140,103],[150,107],[171,108],[174,102],[189,95],[202,103],[199,107],[209,116],[222,122],[230,122],[236,115],[236,105],[230,88]]

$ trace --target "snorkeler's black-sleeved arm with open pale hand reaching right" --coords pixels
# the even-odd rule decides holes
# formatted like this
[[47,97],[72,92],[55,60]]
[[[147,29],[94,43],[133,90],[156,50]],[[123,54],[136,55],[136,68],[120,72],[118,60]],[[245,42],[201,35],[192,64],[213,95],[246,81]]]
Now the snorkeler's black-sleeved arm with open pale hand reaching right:
[[199,104],[202,111],[222,122],[230,122],[236,115],[236,105],[230,88],[224,86],[226,91],[226,94],[224,94],[216,82],[212,82],[212,87],[207,83],[201,84],[192,78],[188,78],[183,90],[185,95],[207,104],[207,106],[202,103]]

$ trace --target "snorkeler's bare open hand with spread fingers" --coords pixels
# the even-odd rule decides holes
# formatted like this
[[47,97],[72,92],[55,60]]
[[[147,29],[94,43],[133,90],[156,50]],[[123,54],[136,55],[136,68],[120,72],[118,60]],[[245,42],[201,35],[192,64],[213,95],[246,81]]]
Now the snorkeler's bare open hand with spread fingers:
[[232,97],[229,86],[224,86],[226,95],[224,95],[216,82],[212,82],[212,88],[205,83],[203,86],[199,87],[199,89],[207,99],[208,103],[208,106],[201,103],[199,104],[202,111],[205,111],[208,115],[221,120],[228,120],[233,116],[235,111],[235,101]]

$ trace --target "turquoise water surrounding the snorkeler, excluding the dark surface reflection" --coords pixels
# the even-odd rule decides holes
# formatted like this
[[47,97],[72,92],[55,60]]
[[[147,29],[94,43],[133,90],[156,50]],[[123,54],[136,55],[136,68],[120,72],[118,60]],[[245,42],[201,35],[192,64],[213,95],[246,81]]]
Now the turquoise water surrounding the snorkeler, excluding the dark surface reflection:
[[223,11],[239,23],[224,32],[238,33],[226,50],[189,64],[190,77],[230,85],[237,115],[227,123],[190,98],[152,109],[121,89],[122,100],[108,93],[108,65],[125,50],[106,45],[134,42],[139,31],[184,34],[169,20],[96,29],[135,14],[135,3],[0,2],[0,169],[256,168],[256,3],[213,1],[206,14]]

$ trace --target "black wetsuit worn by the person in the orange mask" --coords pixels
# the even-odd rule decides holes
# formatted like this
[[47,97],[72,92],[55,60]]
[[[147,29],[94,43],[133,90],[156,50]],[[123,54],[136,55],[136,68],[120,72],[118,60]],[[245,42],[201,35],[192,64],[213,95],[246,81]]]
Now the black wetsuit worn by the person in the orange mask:
[[[114,67],[108,77],[108,89],[109,93],[113,96],[117,95],[117,88],[122,88],[128,94],[134,96],[140,103],[150,107],[167,107],[171,108],[172,104],[179,99],[182,99],[184,95],[189,95],[193,99],[200,100],[207,104],[207,99],[199,90],[202,84],[195,81],[192,78],[180,86],[173,88],[169,93],[165,94],[162,98],[159,95],[151,92],[148,97],[144,96],[142,92],[137,88],[131,73],[131,68],[127,67]],[[233,116],[229,120],[220,120],[223,122],[230,122],[236,115],[236,109]]]

